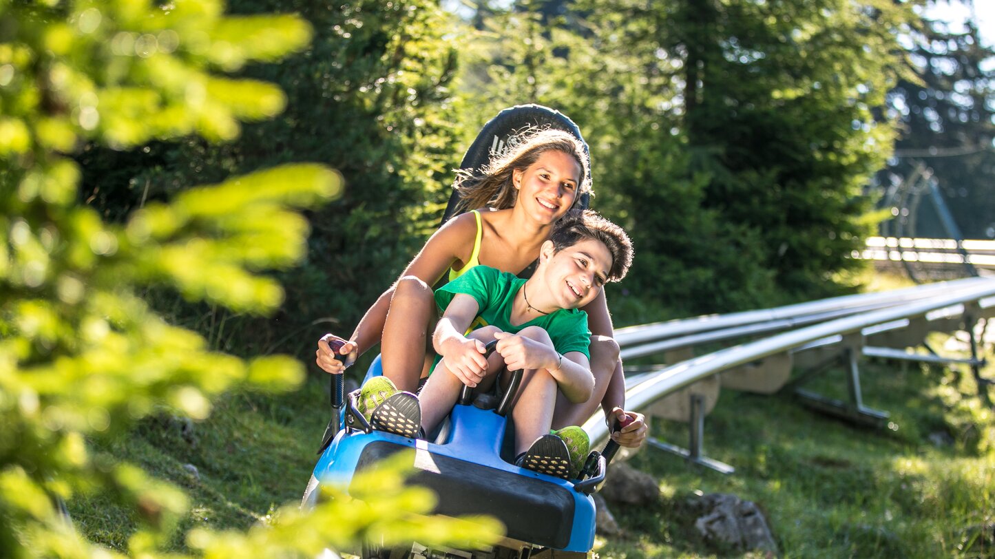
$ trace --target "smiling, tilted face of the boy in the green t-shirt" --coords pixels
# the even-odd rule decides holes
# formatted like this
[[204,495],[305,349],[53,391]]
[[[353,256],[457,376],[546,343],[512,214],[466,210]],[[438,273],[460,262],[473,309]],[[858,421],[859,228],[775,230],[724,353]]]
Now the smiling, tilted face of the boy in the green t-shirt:
[[608,280],[612,254],[601,241],[585,239],[558,253],[552,252],[552,243],[547,241],[543,251],[549,255],[545,285],[560,308],[591,302]]

